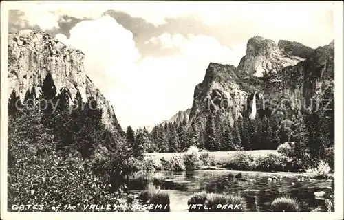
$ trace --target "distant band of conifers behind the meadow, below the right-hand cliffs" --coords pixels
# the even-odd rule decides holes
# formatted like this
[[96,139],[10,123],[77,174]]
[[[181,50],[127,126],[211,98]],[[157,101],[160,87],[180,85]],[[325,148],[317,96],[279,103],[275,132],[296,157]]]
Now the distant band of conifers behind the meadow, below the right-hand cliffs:
[[[140,140],[136,143],[145,138],[147,142],[140,144],[140,152],[166,153],[186,151],[189,146],[207,151],[276,150],[280,144],[295,142],[301,151],[299,157],[308,155],[318,160],[324,159],[325,151],[334,147],[333,114],[333,111],[303,111],[289,118],[283,115],[255,120],[240,117],[230,125],[219,113],[209,112],[204,125],[188,124],[184,119],[180,124],[156,125],[151,133],[138,129],[136,135]],[[135,140],[136,135],[129,126],[127,136]]]

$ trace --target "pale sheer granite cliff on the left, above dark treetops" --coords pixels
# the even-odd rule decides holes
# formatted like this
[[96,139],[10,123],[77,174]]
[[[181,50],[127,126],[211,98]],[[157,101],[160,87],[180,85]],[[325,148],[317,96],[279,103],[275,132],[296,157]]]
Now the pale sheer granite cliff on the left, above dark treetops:
[[52,74],[57,91],[69,89],[72,98],[80,91],[83,101],[93,96],[103,109],[103,123],[120,131],[114,109],[84,72],[85,55],[67,47],[45,32],[21,30],[8,35],[8,94],[14,89],[21,99],[34,87],[39,94],[47,72]]

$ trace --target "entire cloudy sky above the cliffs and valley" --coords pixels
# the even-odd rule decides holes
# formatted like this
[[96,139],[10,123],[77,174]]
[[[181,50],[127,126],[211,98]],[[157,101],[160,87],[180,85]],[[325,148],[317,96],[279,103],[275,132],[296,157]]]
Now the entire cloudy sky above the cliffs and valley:
[[85,53],[85,71],[123,128],[153,126],[192,106],[210,62],[237,66],[252,36],[310,47],[334,39],[333,3],[19,3],[9,32],[43,30]]

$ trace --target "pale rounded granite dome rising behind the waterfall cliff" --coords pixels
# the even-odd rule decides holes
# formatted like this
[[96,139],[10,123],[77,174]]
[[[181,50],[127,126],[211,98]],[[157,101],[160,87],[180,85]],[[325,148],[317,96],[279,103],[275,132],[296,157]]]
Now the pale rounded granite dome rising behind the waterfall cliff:
[[283,67],[296,65],[303,60],[304,58],[283,52],[275,41],[255,36],[248,40],[246,55],[241,58],[238,69],[250,76],[261,77],[271,70],[278,72]]

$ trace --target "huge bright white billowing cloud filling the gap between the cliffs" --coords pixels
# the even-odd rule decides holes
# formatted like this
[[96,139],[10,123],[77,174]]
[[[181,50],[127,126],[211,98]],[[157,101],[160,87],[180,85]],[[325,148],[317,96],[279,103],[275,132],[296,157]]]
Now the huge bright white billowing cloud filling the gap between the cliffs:
[[151,126],[191,107],[193,89],[210,62],[238,62],[235,52],[213,37],[167,33],[148,43],[177,47],[180,54],[140,59],[131,32],[109,16],[81,21],[69,39],[56,38],[85,53],[87,75],[114,105],[124,127]]

